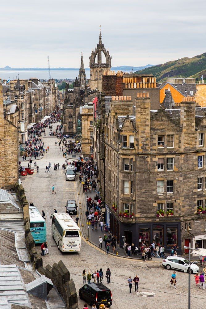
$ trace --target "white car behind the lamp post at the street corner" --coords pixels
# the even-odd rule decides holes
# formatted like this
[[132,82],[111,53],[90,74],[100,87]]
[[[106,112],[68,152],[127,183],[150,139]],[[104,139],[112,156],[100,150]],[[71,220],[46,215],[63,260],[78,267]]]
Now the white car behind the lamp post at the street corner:
[[[181,256],[167,256],[163,261],[162,265],[166,267],[166,269],[177,269],[184,272],[188,271],[189,261],[184,259]],[[191,273],[199,273],[199,267],[191,263],[190,264]]]

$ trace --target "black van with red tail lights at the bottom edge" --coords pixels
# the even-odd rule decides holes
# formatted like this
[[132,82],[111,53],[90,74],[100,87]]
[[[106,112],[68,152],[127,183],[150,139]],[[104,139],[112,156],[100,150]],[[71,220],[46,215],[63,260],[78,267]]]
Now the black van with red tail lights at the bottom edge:
[[98,308],[101,302],[108,307],[112,305],[111,291],[102,283],[85,284],[79,289],[79,298],[86,300],[91,306],[95,304]]

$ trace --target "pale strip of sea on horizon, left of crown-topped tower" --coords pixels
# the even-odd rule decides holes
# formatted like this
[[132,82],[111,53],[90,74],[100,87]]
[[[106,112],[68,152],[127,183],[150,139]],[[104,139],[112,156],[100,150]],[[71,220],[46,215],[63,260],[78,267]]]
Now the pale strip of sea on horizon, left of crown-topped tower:
[[[39,79],[48,79],[47,70],[0,70],[0,78],[2,79],[29,79],[31,77],[38,77]],[[78,77],[79,70],[51,70],[51,78],[53,79],[74,79]],[[90,78],[90,70],[86,70],[86,77]]]

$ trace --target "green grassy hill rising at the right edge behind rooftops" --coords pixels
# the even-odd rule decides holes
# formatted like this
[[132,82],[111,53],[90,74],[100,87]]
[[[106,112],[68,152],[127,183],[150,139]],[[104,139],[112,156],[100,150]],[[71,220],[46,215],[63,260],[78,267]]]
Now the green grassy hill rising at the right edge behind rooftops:
[[167,77],[195,77],[199,79],[202,74],[205,74],[205,70],[206,53],[203,53],[193,58],[185,57],[164,64],[158,64],[157,66],[152,66],[136,73],[153,74],[157,77],[158,82],[162,82]]

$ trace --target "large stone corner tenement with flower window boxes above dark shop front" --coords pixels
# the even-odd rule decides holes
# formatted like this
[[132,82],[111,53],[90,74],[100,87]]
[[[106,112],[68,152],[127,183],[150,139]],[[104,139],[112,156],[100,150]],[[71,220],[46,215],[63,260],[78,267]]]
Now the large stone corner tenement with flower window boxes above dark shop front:
[[125,235],[130,244],[155,241],[167,253],[176,243],[180,254],[189,242],[206,248],[206,108],[193,97],[172,108],[167,96],[169,109],[151,110],[149,93],[139,89],[134,102],[102,94],[94,155],[105,220],[120,245]]

